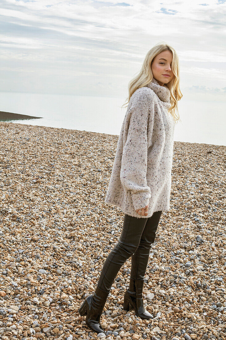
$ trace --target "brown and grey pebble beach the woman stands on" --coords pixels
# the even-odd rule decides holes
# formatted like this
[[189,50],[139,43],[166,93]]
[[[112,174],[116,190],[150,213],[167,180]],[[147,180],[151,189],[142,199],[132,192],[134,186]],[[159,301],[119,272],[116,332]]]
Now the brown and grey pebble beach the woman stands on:
[[0,138],[0,339],[226,340],[226,146],[174,141],[143,291],[153,319],[123,310],[128,259],[97,334],[77,310],[123,226],[104,203],[118,135],[0,122]]

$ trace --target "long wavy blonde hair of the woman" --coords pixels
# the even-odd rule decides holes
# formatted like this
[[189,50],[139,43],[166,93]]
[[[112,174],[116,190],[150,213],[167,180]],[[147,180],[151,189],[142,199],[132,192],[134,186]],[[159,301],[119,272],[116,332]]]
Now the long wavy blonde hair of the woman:
[[[180,85],[179,85],[180,84],[179,60],[178,60],[178,55],[176,51],[174,50],[174,48],[168,44],[163,44],[163,43],[156,44],[148,51],[148,53],[145,56],[140,72],[128,84],[129,96],[126,98],[127,102],[123,104],[123,106],[129,103],[132,94],[138,88],[146,86],[152,81],[153,79],[153,74],[151,71],[152,61],[154,60],[154,57],[156,55],[166,50],[171,51],[173,54],[171,70],[174,74],[174,77],[169,83],[165,84],[164,86],[168,87],[170,90],[171,106],[168,109],[168,112],[171,113],[174,121],[177,122],[178,120],[180,120],[177,102],[178,100],[181,100],[181,98],[183,97],[181,90],[180,90]],[[176,112],[178,115],[176,114]]]

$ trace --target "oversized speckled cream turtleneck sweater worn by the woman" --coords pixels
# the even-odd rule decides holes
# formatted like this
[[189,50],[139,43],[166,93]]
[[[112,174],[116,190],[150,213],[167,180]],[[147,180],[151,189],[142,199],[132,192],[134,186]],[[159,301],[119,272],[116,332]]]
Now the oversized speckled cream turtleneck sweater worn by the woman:
[[[168,87],[154,78],[130,98],[105,198],[124,214],[148,218],[170,209],[175,122],[169,107]],[[136,212],[147,204],[147,216]]]

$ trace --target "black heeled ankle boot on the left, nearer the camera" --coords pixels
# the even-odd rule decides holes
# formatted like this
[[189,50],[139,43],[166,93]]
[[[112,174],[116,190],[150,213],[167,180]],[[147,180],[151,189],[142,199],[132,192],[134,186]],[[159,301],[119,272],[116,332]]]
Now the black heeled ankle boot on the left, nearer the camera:
[[100,317],[107,301],[109,291],[100,289],[98,286],[94,294],[87,296],[78,312],[81,316],[86,315],[86,325],[96,333],[104,332],[100,325]]

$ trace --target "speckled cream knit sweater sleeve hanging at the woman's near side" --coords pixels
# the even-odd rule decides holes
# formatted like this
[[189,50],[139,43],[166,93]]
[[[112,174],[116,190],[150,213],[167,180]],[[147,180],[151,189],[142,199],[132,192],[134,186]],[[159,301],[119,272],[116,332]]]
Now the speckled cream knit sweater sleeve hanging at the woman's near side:
[[153,98],[146,89],[134,92],[130,108],[128,134],[123,147],[120,180],[131,190],[134,209],[149,203],[150,187],[147,185],[147,129],[150,115],[154,115]]

